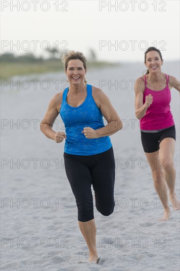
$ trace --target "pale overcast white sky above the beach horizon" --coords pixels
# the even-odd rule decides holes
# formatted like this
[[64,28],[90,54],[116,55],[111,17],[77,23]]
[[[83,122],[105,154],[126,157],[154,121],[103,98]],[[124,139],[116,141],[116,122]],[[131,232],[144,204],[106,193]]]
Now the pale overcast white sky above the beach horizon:
[[81,51],[88,58],[144,62],[148,47],[166,61],[180,59],[180,1],[20,0],[0,1],[0,52],[33,53],[48,48]]

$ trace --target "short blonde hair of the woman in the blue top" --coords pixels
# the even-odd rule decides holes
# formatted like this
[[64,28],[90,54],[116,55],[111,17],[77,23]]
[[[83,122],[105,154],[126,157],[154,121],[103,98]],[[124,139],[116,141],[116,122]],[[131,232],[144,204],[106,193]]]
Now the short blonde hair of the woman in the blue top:
[[[73,59],[78,59],[83,63],[84,69],[87,68],[87,59],[81,52],[67,51],[63,54],[61,61],[63,63],[64,69],[67,70],[68,62]],[[84,77],[84,82],[87,83],[86,78]]]

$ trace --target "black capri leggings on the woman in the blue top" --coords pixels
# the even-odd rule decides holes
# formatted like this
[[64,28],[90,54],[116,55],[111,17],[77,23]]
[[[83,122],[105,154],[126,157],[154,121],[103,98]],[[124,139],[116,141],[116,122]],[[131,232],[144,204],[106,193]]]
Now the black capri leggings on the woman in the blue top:
[[94,218],[91,185],[95,192],[97,210],[103,215],[110,215],[115,205],[113,148],[89,156],[64,153],[64,163],[76,198],[78,221],[86,222]]

